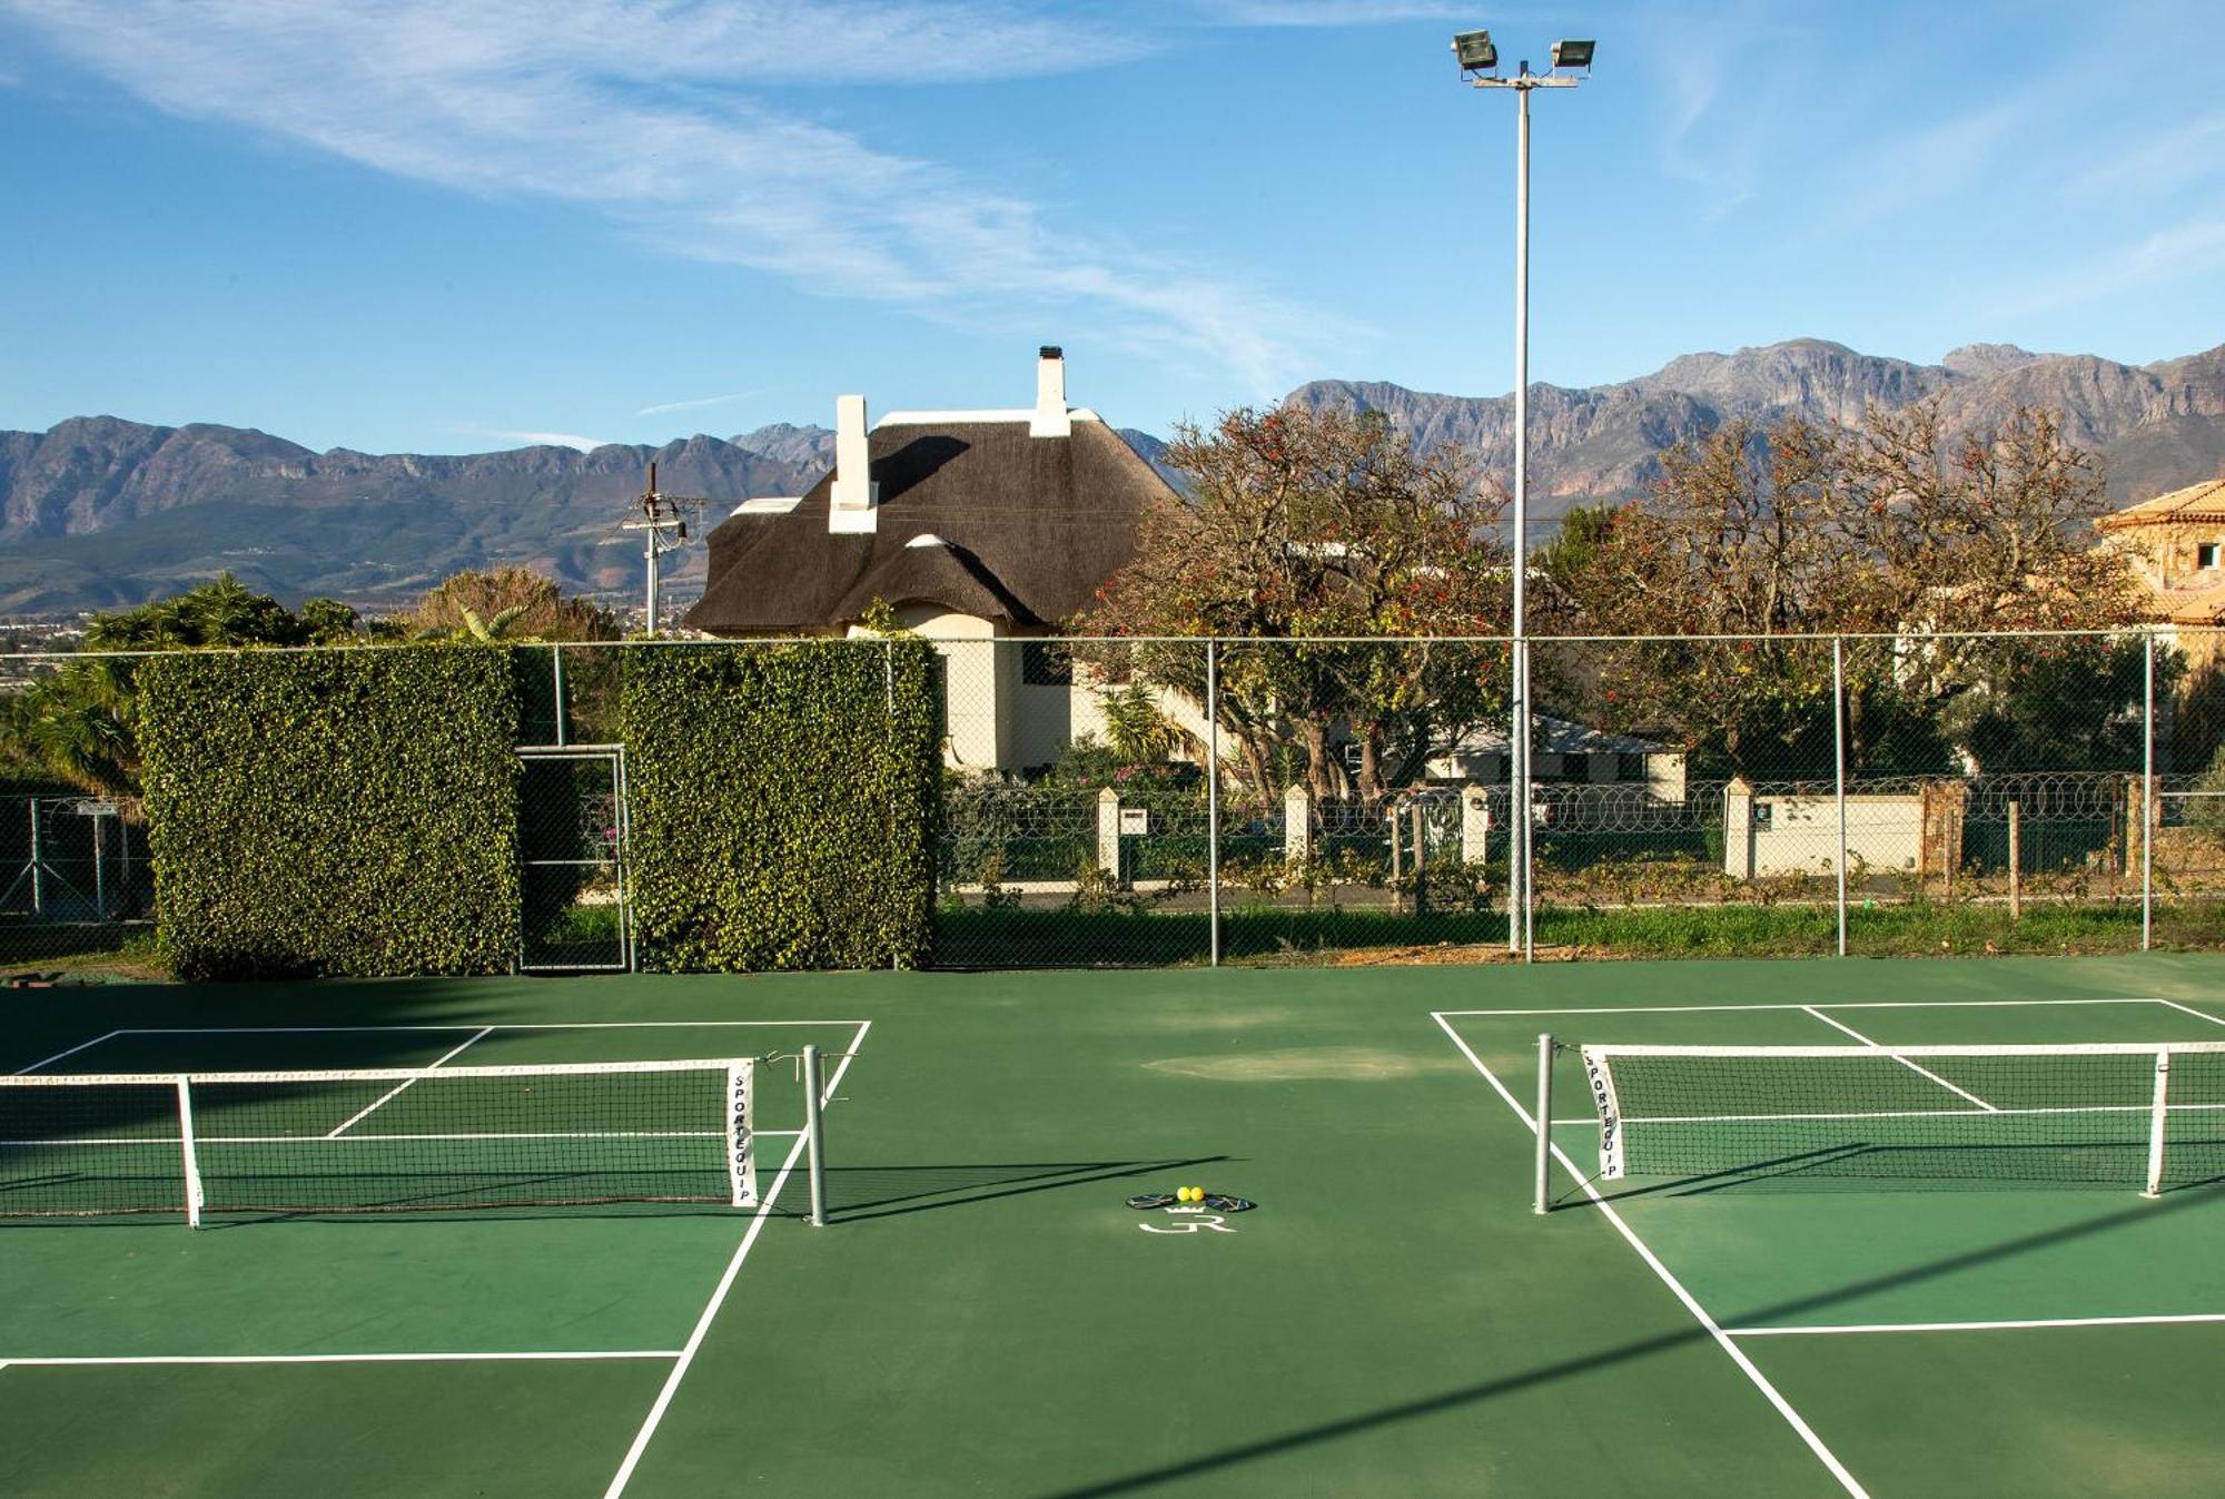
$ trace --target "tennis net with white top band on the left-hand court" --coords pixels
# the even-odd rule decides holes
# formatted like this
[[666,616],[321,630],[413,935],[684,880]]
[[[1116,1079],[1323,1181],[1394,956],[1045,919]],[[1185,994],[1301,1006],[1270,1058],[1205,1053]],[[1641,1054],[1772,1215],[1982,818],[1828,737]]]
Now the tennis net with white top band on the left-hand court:
[[756,1205],[752,1061],[0,1076],[0,1214]]

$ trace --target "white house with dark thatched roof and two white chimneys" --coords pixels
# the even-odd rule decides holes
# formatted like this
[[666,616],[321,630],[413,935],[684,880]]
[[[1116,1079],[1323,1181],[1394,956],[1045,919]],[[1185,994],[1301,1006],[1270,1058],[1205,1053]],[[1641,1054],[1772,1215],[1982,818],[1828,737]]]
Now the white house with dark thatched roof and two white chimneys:
[[1095,411],[1066,405],[1044,349],[1035,405],[890,411],[834,403],[834,471],[792,500],[745,500],[710,534],[710,580],[685,623],[716,636],[846,634],[874,603],[948,661],[948,758],[1046,765],[1104,734],[1104,701],[1028,636],[1097,600],[1128,565],[1144,509],[1170,496]]

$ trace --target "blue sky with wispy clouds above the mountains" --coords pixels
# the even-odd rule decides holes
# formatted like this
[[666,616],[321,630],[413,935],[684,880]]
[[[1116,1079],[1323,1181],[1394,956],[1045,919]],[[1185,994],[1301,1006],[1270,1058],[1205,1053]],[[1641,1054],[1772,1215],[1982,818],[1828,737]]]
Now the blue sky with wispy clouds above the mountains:
[[0,427],[656,443],[1317,378],[1511,385],[1791,336],[2225,340],[2225,7],[0,0]]

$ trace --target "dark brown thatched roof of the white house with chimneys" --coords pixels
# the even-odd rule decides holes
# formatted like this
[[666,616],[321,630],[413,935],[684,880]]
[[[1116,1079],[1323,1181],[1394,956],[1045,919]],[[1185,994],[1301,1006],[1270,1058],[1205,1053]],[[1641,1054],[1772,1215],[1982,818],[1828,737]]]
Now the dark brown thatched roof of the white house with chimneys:
[[710,534],[688,625],[723,636],[828,629],[877,598],[1046,627],[1086,609],[1135,556],[1137,518],[1170,494],[1101,420],[1030,436],[1012,418],[890,420],[868,438],[877,529],[828,532],[825,474],[785,512]]

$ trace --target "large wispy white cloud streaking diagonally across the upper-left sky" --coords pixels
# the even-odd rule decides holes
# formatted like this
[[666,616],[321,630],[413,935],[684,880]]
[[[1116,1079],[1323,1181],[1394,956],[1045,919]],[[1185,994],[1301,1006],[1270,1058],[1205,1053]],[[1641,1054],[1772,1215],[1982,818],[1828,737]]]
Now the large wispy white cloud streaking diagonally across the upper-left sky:
[[[1266,396],[1333,338],[1242,276],[1050,222],[761,85],[957,82],[1141,56],[1032,0],[0,0],[160,109],[367,167],[587,207],[659,249],[968,327],[1066,327]],[[901,38],[861,44],[861,38]],[[1079,331],[1077,331],[1079,336]]]

